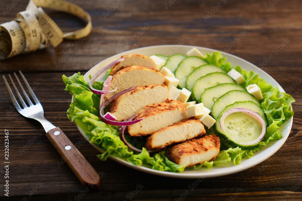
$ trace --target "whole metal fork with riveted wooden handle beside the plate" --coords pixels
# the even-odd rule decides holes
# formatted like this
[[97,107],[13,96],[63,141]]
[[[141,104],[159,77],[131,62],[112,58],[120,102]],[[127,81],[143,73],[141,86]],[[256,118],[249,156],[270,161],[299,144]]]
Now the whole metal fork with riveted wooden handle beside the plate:
[[48,139],[51,141],[51,143],[53,143],[53,145],[58,150],[58,152],[63,157],[63,159],[66,161],[66,163],[71,168],[73,173],[76,175],[76,177],[78,177],[82,185],[85,187],[90,187],[94,190],[98,190],[101,185],[101,179],[99,174],[87,162],[87,160],[79,152],[79,150],[72,144],[72,142],[66,137],[63,131],[59,127],[56,127],[52,123],[50,123],[46,118],[44,118],[44,110],[41,103],[39,102],[33,90],[29,86],[22,72],[19,71],[19,73],[21,74],[21,77],[25,83],[25,86],[29,94],[34,100],[34,104],[33,104],[33,102],[31,102],[31,99],[29,99],[26,91],[24,90],[17,74],[14,73],[16,80],[20,86],[20,89],[27,101],[27,104],[29,105],[27,106],[22,96],[20,95],[13,79],[11,78],[11,75],[8,74],[8,77],[11,80],[11,83],[14,87],[14,90],[23,108],[21,108],[13,92],[11,91],[11,87],[9,86],[5,76],[4,75],[2,76],[6,88],[8,90],[9,96],[11,97],[11,101],[13,102],[17,111],[24,117],[32,118],[39,121],[42,124]]

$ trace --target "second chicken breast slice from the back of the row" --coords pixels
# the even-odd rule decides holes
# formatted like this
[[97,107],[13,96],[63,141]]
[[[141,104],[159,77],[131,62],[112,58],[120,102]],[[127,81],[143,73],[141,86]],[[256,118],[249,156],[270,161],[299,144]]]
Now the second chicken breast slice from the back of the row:
[[107,93],[106,98],[109,99],[132,86],[162,85],[164,81],[164,75],[154,68],[128,66],[114,74],[109,85],[109,90],[114,90],[116,87],[117,90]]

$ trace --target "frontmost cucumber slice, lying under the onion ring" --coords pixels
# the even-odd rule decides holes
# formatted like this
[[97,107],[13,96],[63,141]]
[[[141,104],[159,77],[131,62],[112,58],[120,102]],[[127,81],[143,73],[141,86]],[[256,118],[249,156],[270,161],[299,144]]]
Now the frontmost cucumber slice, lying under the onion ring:
[[242,149],[258,146],[260,142],[253,145],[241,144],[257,139],[262,133],[262,124],[257,118],[244,112],[230,114],[224,120],[225,132],[220,127],[220,118],[221,116],[216,120],[215,133],[231,146],[239,146]]

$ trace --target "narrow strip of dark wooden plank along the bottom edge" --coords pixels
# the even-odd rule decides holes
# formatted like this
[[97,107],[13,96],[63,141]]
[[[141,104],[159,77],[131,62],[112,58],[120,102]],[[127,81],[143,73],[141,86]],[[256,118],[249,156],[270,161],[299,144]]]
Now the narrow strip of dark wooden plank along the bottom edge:
[[[102,200],[137,200],[137,201],[172,201],[172,200],[291,200],[291,201],[300,201],[302,199],[301,192],[292,192],[292,191],[260,191],[260,192],[243,192],[241,193],[240,190],[243,188],[239,188],[234,193],[221,193],[221,194],[203,194],[203,195],[193,195],[192,191],[183,191],[178,193],[177,195],[167,194],[164,192],[159,191],[149,191],[148,198],[146,197],[146,193],[144,196],[141,195],[142,192],[125,192],[124,195],[121,195],[120,192],[118,193],[90,193],[88,190],[79,191],[75,194],[55,194],[55,195],[46,195],[46,196],[33,196],[30,200],[32,201],[39,201],[43,199],[44,201],[51,201],[51,200],[89,200],[89,201],[98,201],[100,198]],[[126,194],[127,193],[127,194]],[[169,193],[172,193],[171,191]],[[186,194],[187,193],[187,194]],[[155,194],[160,195],[158,198],[154,198]],[[7,200],[22,200],[24,197],[16,196],[8,198]]]

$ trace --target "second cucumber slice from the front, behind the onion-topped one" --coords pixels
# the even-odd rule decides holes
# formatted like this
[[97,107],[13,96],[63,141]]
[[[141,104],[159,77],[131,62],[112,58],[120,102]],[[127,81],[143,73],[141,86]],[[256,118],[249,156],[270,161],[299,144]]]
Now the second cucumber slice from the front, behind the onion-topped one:
[[239,102],[234,102],[231,105],[227,105],[224,108],[224,110],[220,112],[219,116],[223,115],[223,113],[225,113],[226,111],[233,109],[233,108],[247,108],[254,112],[257,112],[263,118],[265,125],[267,125],[267,119],[266,119],[263,109],[252,101],[239,101]]

